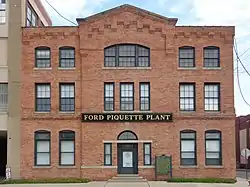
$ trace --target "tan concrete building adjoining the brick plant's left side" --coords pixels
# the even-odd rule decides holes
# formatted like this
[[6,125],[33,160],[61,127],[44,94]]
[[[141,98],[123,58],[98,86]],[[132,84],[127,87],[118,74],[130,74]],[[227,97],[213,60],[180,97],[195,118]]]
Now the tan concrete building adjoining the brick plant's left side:
[[40,0],[0,0],[0,177],[6,165],[14,178],[20,177],[22,26],[51,26]]

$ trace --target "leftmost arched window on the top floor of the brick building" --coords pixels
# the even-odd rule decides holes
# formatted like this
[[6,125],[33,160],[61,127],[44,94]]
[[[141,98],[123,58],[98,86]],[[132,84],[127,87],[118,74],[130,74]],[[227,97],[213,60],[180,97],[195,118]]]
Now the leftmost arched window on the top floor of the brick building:
[[50,48],[38,47],[35,50],[36,53],[36,67],[37,68],[49,68],[50,64]]

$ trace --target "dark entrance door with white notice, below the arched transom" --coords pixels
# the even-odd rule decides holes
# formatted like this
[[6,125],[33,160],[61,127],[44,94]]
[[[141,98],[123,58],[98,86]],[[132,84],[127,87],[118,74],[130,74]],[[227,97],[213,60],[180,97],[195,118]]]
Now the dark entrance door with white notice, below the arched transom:
[[121,143],[117,149],[118,174],[138,174],[138,144]]

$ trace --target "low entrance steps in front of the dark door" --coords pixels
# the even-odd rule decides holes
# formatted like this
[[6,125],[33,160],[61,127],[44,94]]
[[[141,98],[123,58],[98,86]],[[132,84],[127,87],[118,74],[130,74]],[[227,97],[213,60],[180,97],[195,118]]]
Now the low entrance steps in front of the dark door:
[[108,182],[147,182],[147,179],[138,174],[118,174],[109,179]]

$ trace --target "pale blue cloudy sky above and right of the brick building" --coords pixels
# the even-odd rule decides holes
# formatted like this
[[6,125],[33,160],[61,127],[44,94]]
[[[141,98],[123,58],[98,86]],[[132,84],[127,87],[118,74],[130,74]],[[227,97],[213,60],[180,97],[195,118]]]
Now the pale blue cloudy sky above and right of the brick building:
[[[131,4],[161,14],[178,18],[177,25],[230,25],[236,26],[236,41],[242,63],[250,72],[250,0],[47,0],[57,11],[69,20],[87,17],[95,13],[122,5]],[[42,0],[53,25],[72,25],[61,18],[47,3]],[[249,50],[248,50],[249,49]],[[236,59],[236,58],[235,58]],[[236,60],[234,62],[236,67]],[[250,114],[250,76],[239,67],[239,80],[242,99],[235,79],[236,115]]]

